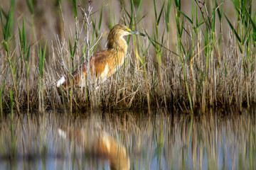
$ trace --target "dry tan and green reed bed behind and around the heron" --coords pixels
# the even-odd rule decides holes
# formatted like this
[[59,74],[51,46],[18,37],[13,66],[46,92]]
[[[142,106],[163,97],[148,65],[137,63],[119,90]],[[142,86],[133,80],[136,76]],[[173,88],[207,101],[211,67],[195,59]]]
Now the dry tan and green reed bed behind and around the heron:
[[[72,14],[71,14],[72,13]],[[117,23],[128,37],[124,66],[99,90],[58,89]],[[256,100],[255,2],[1,1],[0,108],[250,107]]]

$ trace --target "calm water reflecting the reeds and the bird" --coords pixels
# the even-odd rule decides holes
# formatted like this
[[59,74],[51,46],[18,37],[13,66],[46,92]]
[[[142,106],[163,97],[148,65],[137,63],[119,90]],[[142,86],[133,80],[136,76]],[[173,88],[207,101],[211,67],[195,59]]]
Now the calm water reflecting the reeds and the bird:
[[10,115],[0,169],[256,169],[254,109]]

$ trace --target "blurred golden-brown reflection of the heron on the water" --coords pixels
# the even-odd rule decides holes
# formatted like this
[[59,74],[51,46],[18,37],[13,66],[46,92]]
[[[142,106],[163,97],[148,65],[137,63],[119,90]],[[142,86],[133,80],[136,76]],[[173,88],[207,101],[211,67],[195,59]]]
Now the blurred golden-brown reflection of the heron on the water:
[[107,132],[103,130],[85,130],[85,129],[58,129],[58,135],[64,139],[74,141],[84,149],[84,152],[94,157],[107,159],[110,162],[112,170],[130,169],[130,160],[124,145],[114,140]]

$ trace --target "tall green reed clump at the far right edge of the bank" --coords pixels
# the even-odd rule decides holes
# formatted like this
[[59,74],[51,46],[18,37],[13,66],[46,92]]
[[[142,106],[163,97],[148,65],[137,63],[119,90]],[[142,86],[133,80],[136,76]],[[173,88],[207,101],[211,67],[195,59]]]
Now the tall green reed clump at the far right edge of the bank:
[[[250,81],[251,81],[251,70],[254,67],[252,64],[255,61],[255,55],[251,52],[251,47],[255,38],[253,38],[252,34],[255,33],[255,22],[252,21],[252,16],[255,18],[255,13],[252,13],[252,0],[250,1],[241,1],[241,0],[233,0],[233,5],[237,14],[237,26],[233,26],[228,17],[225,15],[226,20],[228,21],[228,25],[233,31],[238,48],[240,50],[240,54],[242,55],[242,64],[244,67],[245,74],[245,84],[246,84],[246,96],[247,96],[247,107],[250,106],[251,94],[249,92],[250,89]],[[253,29],[252,29],[253,28]],[[254,31],[254,32],[253,32]],[[242,79],[242,77],[240,77]],[[242,90],[241,90],[242,91]],[[242,107],[242,95],[240,94],[240,108]]]

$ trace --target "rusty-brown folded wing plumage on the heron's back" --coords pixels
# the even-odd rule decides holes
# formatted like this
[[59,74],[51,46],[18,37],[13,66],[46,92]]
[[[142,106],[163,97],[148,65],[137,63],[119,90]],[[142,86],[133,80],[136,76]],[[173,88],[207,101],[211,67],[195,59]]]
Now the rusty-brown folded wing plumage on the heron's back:
[[[110,57],[110,51],[103,50],[100,52],[97,52],[93,57],[90,59],[90,73],[94,74],[96,77],[98,77],[102,72],[105,70],[105,65],[108,62],[108,58]],[[92,69],[94,68],[94,69]],[[76,69],[72,73],[72,84],[82,84],[86,79],[87,76],[87,62],[83,63],[78,69]],[[65,77],[66,80],[63,82],[62,86],[65,89],[70,88],[71,83],[70,79],[68,77]]]

